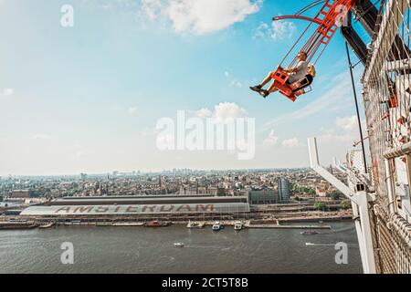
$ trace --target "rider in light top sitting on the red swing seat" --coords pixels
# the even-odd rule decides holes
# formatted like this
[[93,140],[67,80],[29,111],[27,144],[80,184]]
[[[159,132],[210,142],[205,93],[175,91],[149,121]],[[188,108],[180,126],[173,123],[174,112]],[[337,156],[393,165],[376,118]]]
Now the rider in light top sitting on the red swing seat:
[[[290,77],[287,79],[286,83],[291,85],[304,77],[306,77],[309,82],[308,84],[304,84],[303,87],[295,89],[294,91],[300,90],[304,87],[311,85],[312,80],[315,77],[315,68],[312,64],[308,64],[307,53],[300,52],[299,55],[297,55],[297,58],[299,59],[299,63],[295,68],[284,68],[285,72],[290,73]],[[264,89],[264,87],[269,83],[269,80],[272,79],[272,75],[274,74],[274,72],[275,71],[269,72],[269,75],[262,81],[261,84],[250,87],[249,89],[257,91],[259,95],[261,95],[263,98],[267,98],[270,93],[278,91],[279,89],[277,89],[274,84],[275,80],[271,82],[271,84],[269,85],[269,89]]]

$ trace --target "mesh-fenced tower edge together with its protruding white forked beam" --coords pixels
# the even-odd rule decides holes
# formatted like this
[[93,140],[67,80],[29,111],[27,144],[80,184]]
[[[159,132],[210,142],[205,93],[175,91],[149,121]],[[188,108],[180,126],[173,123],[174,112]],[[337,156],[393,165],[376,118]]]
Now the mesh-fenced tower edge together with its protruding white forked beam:
[[315,139],[311,167],[353,203],[365,273],[411,273],[411,5],[382,1],[362,82],[370,174],[350,151],[348,186],[323,169]]

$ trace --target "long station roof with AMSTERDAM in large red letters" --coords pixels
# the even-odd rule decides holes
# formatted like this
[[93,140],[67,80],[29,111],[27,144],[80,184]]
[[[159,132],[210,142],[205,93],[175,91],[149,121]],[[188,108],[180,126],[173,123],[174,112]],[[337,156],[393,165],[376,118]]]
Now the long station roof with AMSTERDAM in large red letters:
[[140,195],[63,197],[31,206],[21,215],[193,214],[249,212],[247,196]]

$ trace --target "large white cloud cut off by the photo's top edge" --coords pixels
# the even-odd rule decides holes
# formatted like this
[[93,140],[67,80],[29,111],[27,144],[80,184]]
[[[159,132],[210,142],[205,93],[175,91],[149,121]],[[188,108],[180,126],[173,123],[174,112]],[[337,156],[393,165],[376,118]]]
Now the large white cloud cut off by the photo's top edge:
[[141,13],[170,21],[177,33],[203,35],[243,21],[261,5],[262,0],[142,0]]

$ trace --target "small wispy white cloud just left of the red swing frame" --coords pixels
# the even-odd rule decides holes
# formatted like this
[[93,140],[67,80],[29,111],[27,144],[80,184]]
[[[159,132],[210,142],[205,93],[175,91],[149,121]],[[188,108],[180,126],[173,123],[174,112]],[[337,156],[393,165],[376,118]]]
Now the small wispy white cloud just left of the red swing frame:
[[254,38],[282,40],[293,36],[296,30],[297,27],[290,21],[273,21],[271,26],[261,23],[255,30]]

